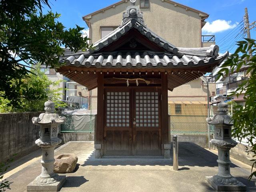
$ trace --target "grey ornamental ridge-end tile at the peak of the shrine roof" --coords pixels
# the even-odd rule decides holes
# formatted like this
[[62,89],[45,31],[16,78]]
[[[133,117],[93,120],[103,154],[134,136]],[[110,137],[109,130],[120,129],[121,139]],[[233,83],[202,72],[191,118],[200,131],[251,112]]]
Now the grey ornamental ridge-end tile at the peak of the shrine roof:
[[131,5],[126,8],[126,12],[123,13],[122,24],[119,26],[120,28],[126,25],[128,22],[132,22],[132,24],[136,24],[136,22],[140,23],[145,28],[147,25],[144,23],[143,13],[140,12],[140,8],[135,5],[136,0],[130,0]]

